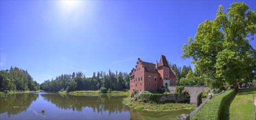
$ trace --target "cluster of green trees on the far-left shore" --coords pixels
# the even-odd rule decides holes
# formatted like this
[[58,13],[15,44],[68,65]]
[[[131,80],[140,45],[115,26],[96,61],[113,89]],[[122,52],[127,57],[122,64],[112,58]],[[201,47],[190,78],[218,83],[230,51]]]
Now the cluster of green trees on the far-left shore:
[[38,89],[39,83],[33,81],[27,70],[10,67],[10,70],[0,71],[0,91],[37,91]]

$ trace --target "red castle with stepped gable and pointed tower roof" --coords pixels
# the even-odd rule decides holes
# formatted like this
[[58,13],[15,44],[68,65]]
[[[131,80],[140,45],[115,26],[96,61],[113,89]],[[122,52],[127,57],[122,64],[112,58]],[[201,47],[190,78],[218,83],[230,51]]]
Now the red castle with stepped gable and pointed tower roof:
[[165,56],[161,56],[159,64],[157,61],[153,64],[138,58],[135,68],[130,73],[130,94],[134,89],[143,92],[163,88],[164,80],[168,80],[170,86],[176,85],[175,73],[169,67]]

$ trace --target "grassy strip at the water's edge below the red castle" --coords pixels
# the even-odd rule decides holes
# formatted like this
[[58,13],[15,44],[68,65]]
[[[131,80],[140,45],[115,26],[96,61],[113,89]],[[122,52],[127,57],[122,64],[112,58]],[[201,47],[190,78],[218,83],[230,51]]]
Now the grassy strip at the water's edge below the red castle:
[[196,109],[195,106],[185,103],[143,103],[139,101],[131,101],[131,98],[124,98],[123,103],[138,110],[149,111],[173,111],[180,109]]

